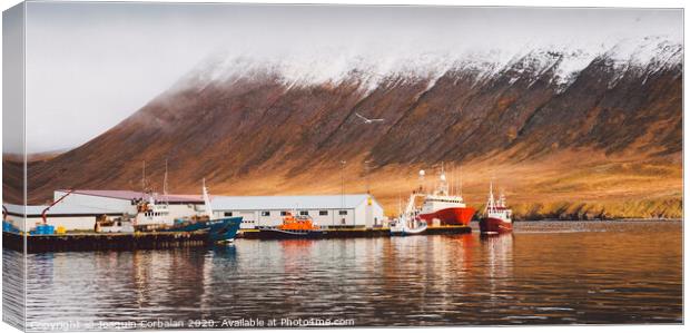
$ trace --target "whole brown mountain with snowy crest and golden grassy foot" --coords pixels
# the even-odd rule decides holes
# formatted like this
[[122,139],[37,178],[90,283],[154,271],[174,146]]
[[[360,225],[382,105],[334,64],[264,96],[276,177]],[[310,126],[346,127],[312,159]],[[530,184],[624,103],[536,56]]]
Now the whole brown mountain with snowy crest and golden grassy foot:
[[444,163],[455,183],[463,166],[477,206],[494,178],[524,216],[678,217],[682,52],[648,37],[512,55],[219,55],[91,141],[30,163],[29,199],[138,189],[144,160],[160,189],[168,160],[172,192],[206,177],[216,194],[339,193],[344,177],[392,209],[417,169]]

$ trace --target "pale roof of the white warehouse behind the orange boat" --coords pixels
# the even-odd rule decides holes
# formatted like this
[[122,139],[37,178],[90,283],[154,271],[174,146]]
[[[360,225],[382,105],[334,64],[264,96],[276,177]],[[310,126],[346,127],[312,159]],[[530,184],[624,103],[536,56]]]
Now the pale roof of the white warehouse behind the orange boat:
[[[355,208],[366,202],[366,194],[295,196],[215,196],[214,210],[260,209],[338,209]],[[376,203],[374,197],[373,202]],[[343,203],[344,202],[344,203]]]

